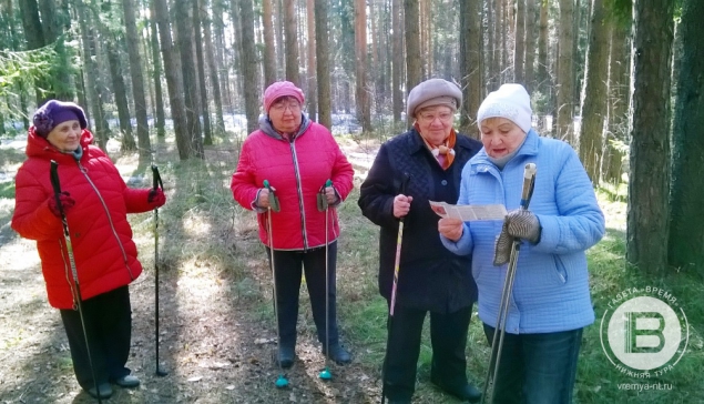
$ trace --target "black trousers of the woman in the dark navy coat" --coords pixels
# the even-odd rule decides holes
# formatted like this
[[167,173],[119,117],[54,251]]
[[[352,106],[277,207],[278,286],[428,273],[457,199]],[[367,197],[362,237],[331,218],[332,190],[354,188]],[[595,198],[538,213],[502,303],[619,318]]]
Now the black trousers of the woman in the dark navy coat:
[[[471,312],[471,305],[447,314],[430,312],[430,378],[442,382],[445,387],[459,388],[467,384],[465,349]],[[416,391],[416,368],[426,313],[425,310],[396,304],[394,317],[389,317],[390,340],[384,377],[389,400],[410,401]]]

